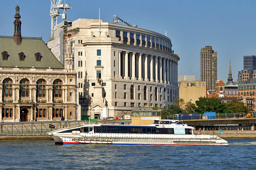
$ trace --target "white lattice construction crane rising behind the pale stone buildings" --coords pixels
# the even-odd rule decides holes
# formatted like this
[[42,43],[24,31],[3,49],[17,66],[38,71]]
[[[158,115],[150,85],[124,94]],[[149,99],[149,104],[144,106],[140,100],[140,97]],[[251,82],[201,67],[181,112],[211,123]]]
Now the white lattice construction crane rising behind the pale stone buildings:
[[[66,19],[67,18],[66,9],[71,8],[68,4],[61,3],[61,1],[62,0],[56,0],[56,1],[51,0],[51,11],[50,11],[50,15],[51,15],[51,39],[53,39],[53,37],[54,37],[53,29],[57,25],[58,16],[61,15],[62,19]],[[59,14],[60,9],[63,10],[63,14]]]

